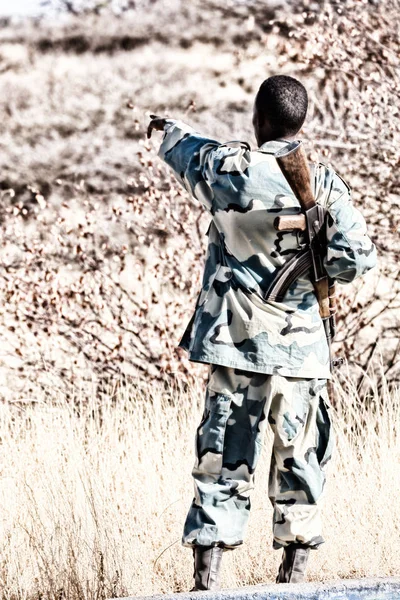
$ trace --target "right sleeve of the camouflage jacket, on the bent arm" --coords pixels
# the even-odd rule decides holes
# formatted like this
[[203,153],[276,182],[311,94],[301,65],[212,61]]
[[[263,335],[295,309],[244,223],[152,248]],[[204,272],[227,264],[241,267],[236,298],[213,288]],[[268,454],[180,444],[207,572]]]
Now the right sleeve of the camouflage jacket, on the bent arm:
[[350,283],[376,265],[376,248],[364,217],[353,206],[350,188],[336,174],[326,208],[325,269],[339,283]]

